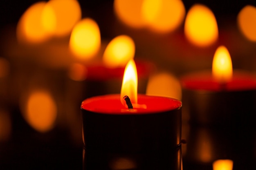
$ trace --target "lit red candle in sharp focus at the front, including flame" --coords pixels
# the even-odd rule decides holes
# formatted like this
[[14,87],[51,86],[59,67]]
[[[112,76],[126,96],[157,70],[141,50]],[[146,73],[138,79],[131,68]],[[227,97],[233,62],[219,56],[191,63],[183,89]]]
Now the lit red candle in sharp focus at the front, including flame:
[[[136,169],[180,169],[182,103],[168,97],[137,95],[136,73],[130,60],[121,95],[101,95],[82,102],[85,169],[109,169],[111,162],[120,158],[128,158]],[[130,95],[132,109],[123,94]]]

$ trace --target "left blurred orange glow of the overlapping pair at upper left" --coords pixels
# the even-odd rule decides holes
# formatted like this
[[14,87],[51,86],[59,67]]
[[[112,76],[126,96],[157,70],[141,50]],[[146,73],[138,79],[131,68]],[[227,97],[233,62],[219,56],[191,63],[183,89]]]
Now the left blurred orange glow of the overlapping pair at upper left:
[[19,42],[40,43],[49,39],[55,28],[55,15],[46,2],[37,2],[21,16],[17,25]]

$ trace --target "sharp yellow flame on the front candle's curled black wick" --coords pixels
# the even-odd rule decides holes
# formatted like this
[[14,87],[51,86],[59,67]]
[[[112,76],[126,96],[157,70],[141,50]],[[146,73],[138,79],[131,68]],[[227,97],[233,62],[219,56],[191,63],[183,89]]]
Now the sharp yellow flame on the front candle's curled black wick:
[[133,59],[131,59],[125,69],[124,77],[121,88],[121,103],[126,106],[126,102],[123,99],[125,95],[129,96],[132,104],[137,104],[137,88],[138,88],[138,75],[137,68]]

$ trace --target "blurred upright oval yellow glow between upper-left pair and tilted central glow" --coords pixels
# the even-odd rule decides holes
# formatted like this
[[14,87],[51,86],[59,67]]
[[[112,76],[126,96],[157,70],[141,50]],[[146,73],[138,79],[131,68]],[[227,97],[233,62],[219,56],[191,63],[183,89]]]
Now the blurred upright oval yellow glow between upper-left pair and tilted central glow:
[[98,24],[85,18],[76,24],[70,36],[70,50],[81,60],[90,60],[101,46],[101,35]]

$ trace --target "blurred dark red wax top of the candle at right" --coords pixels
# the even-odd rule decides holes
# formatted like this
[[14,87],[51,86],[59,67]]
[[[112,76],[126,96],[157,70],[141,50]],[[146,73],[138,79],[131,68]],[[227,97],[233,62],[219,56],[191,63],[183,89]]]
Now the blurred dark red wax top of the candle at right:
[[256,90],[256,75],[245,71],[234,71],[233,79],[224,86],[216,82],[211,71],[192,73],[181,78],[183,88],[205,91]]

